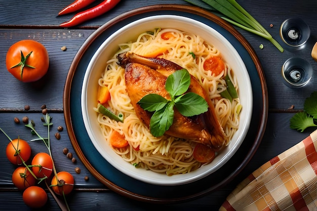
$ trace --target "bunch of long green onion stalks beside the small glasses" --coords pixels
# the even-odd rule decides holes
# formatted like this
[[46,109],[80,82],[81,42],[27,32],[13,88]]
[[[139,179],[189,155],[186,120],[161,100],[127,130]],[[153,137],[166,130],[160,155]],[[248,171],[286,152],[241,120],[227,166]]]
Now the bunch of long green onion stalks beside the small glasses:
[[280,52],[284,52],[283,47],[276,41],[272,35],[255,20],[241,5],[235,0],[184,0],[192,5],[210,10],[218,11],[218,15],[229,23],[240,27],[246,31],[257,34],[269,40]]

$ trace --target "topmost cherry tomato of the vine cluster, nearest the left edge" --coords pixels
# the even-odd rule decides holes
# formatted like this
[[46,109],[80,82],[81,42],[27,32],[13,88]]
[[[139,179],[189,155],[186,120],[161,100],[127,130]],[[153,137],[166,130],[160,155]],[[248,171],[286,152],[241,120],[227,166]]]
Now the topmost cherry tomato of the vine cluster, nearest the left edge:
[[31,156],[31,147],[22,139],[14,139],[7,145],[6,154],[10,162],[20,165],[22,160],[19,155],[24,161],[27,161]]

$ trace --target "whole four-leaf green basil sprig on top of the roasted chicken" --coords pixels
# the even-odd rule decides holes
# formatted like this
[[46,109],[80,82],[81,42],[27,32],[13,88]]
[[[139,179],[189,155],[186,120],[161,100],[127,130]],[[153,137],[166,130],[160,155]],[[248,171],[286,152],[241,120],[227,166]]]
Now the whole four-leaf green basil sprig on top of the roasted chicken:
[[189,85],[189,72],[186,69],[177,70],[168,76],[165,83],[171,100],[161,95],[148,94],[138,102],[144,110],[154,112],[150,119],[150,133],[154,137],[162,136],[173,124],[174,106],[183,116],[199,115],[208,110],[203,97],[191,92],[185,93]]

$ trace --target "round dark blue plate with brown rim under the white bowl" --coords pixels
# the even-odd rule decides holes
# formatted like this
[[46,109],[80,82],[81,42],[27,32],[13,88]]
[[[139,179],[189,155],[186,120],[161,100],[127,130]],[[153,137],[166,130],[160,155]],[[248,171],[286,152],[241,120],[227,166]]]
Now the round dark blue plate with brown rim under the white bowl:
[[[201,21],[226,37],[239,52],[252,82],[253,115],[248,134],[233,157],[218,171],[199,181],[178,186],[156,186],[126,176],[110,165],[96,150],[86,132],[81,109],[81,90],[86,68],[103,41],[117,29],[140,18],[153,15],[179,15]],[[71,143],[88,170],[109,189],[147,202],[175,202],[193,199],[231,181],[257,150],[267,120],[267,88],[261,64],[248,43],[221,18],[192,6],[155,5],[124,13],[98,28],[77,52],[67,75],[64,90],[64,115]]]

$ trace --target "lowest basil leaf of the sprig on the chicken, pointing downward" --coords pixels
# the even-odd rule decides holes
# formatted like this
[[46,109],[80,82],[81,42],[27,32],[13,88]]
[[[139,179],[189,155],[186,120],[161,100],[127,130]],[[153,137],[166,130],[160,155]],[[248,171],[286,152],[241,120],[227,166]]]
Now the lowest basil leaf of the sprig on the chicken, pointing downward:
[[150,119],[150,133],[154,137],[163,136],[173,124],[174,103],[169,102],[160,110],[156,110]]

